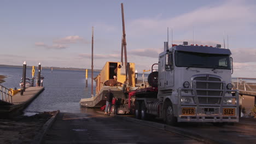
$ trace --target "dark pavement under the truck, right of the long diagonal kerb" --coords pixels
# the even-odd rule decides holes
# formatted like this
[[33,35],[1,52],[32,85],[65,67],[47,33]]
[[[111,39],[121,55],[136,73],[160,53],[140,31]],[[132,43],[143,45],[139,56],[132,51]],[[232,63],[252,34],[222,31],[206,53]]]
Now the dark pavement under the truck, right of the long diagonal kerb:
[[[135,119],[132,115],[124,115],[122,117]],[[150,119],[150,122],[165,125],[165,123],[160,119]],[[177,127],[168,127],[171,129],[178,128],[181,131],[186,131],[187,134],[190,134],[191,136],[198,135],[204,140],[209,140],[215,143],[256,143],[255,118],[241,118],[239,123],[228,123],[222,127],[214,126],[212,123],[185,122],[179,123]]]

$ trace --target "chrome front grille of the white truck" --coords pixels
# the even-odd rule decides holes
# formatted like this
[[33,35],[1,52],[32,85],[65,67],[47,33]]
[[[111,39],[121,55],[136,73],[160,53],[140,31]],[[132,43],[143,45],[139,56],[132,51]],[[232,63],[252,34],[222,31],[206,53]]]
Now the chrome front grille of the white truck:
[[[209,75],[200,76],[200,77],[195,77],[194,81],[196,81],[196,89],[201,89],[201,90],[196,90],[199,104],[214,104],[214,105],[220,104],[221,98],[214,98],[213,96],[222,96],[223,92],[209,90],[209,89],[223,90],[223,83],[218,77],[211,77]],[[210,81],[216,81],[216,82],[210,82]],[[203,96],[203,97],[200,97],[200,96]]]

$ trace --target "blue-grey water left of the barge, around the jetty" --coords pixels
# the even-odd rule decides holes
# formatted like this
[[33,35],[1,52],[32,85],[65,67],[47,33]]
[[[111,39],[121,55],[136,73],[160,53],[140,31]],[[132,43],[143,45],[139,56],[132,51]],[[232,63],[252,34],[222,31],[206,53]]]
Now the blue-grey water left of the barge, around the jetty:
[[[28,69],[26,74],[31,78],[31,69]],[[43,69],[41,74],[45,78],[43,81],[45,90],[24,110],[26,115],[55,110],[80,112],[80,99],[91,97],[91,79],[88,77],[88,87],[85,88],[85,71],[53,70],[51,73],[50,69]],[[99,72],[94,72],[94,77],[98,74]],[[22,68],[0,67],[0,75],[8,76],[2,83],[3,86],[19,88]],[[90,73],[88,75],[90,76]]]

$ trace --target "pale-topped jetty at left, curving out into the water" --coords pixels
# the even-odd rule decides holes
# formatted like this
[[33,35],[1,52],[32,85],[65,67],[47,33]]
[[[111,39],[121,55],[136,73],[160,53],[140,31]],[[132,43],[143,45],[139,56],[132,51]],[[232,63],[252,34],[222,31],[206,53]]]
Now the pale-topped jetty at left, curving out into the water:
[[10,95],[7,92],[1,92],[0,99],[0,113],[1,117],[8,117],[11,115],[16,115],[29,105],[33,99],[35,99],[42,91],[44,87],[29,87],[23,95],[19,93],[15,95]]

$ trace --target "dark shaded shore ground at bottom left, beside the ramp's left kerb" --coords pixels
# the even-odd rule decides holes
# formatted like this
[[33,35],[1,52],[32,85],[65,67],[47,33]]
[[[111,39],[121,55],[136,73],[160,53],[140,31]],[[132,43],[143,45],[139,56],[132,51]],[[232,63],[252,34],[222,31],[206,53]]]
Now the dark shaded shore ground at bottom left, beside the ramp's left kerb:
[[0,119],[0,143],[31,143],[36,132],[55,112],[43,112],[30,117]]

